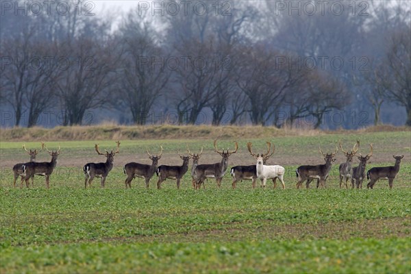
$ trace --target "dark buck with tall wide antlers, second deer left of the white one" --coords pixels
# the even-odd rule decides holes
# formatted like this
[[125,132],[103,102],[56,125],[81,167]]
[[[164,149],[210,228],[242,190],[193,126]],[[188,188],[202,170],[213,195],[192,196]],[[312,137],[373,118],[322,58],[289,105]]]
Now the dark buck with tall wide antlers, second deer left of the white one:
[[207,178],[215,178],[217,186],[220,187],[221,180],[223,179],[228,168],[229,155],[236,153],[238,150],[238,143],[235,142],[236,149],[234,151],[229,152],[228,149],[227,152],[225,152],[224,149],[223,151],[219,151],[219,149],[217,149],[216,142],[217,140],[214,140],[214,151],[221,155],[221,162],[215,164],[199,164],[197,166],[195,169],[195,182],[197,189],[200,188],[201,184],[204,184],[204,180]]

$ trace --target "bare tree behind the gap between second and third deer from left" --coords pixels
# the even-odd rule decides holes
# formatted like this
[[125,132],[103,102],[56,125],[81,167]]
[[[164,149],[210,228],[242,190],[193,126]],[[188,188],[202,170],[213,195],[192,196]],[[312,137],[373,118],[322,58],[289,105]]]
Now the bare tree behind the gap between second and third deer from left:
[[64,111],[64,125],[81,125],[86,110],[110,108],[111,90],[116,77],[119,54],[117,42],[102,43],[87,37],[62,44],[67,67],[55,82]]

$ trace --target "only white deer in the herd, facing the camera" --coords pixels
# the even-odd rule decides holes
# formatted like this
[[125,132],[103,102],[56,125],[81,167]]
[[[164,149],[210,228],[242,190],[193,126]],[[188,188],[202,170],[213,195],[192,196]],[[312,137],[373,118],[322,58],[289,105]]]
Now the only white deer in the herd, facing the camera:
[[[265,188],[267,179],[273,179],[274,188],[276,188],[277,187],[276,180],[278,178],[279,182],[281,182],[282,184],[283,189],[285,189],[286,185],[284,184],[284,173],[286,170],[284,169],[284,167],[279,166],[277,164],[273,166],[266,166],[263,162],[264,162],[264,156],[266,156],[268,152],[266,154],[256,155],[251,150],[252,146],[253,144],[251,144],[251,142],[247,142],[247,149],[249,153],[257,160],[256,175],[257,175],[257,178],[260,179],[262,183],[262,187]],[[274,148],[273,148],[273,152],[274,152]]]

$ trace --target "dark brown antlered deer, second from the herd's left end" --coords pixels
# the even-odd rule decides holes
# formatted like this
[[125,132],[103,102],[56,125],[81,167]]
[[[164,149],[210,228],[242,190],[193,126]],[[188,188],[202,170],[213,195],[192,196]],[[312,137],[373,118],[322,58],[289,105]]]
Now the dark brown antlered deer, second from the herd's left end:
[[[34,177],[34,175],[40,175],[46,177],[46,187],[49,188],[50,175],[53,173],[55,166],[57,165],[57,158],[60,154],[60,145],[57,151],[49,151],[45,147],[49,155],[51,156],[50,162],[28,162],[23,165],[23,173],[25,173],[25,182],[27,188],[29,187],[29,179]],[[33,181],[32,181],[33,182]]]

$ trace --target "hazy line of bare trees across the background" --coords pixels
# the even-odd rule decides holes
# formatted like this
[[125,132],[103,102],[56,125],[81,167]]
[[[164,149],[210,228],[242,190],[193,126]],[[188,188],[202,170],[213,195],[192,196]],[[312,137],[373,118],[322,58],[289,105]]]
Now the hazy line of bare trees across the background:
[[[93,109],[121,110],[139,125],[153,110],[173,110],[181,125],[205,110],[213,125],[229,112],[231,124],[310,119],[332,127],[324,116],[335,110],[411,125],[410,7],[403,2],[329,1],[321,12],[308,4],[290,10],[286,1],[199,3],[209,12],[163,14],[140,3],[115,29],[116,14],[51,8],[34,15],[2,6],[1,104],[13,109],[17,126],[26,112],[28,127],[51,108],[62,110],[63,125],[82,125]],[[343,126],[358,125],[347,119]]]

